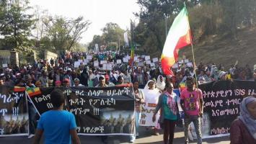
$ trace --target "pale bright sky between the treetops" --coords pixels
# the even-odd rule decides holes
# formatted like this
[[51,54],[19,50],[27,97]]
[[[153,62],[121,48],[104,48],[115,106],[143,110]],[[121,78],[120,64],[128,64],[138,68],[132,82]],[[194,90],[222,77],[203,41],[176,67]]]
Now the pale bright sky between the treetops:
[[30,6],[47,9],[51,15],[67,18],[83,16],[90,24],[82,35],[81,43],[92,41],[94,35],[102,35],[101,29],[108,22],[117,23],[123,30],[130,29],[130,19],[138,22],[133,12],[139,12],[137,0],[30,0]]

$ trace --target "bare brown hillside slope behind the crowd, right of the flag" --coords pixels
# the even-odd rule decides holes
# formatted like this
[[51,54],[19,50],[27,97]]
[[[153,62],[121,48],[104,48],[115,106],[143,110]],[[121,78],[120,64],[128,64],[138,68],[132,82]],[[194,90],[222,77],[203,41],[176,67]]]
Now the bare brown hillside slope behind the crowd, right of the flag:
[[[181,50],[185,56],[192,60],[191,47]],[[238,30],[237,40],[231,40],[225,35],[214,35],[206,38],[203,42],[194,45],[195,63],[223,64],[230,68],[231,64],[238,66],[256,64],[256,27]]]

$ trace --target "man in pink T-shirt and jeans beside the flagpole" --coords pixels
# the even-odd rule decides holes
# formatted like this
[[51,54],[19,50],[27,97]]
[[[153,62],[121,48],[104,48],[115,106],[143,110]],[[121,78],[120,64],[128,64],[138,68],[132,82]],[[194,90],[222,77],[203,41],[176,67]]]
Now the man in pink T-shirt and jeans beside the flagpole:
[[195,88],[195,78],[187,77],[187,89],[180,94],[180,105],[185,113],[185,143],[188,143],[188,130],[190,122],[195,125],[198,144],[202,143],[200,117],[203,116],[203,93]]

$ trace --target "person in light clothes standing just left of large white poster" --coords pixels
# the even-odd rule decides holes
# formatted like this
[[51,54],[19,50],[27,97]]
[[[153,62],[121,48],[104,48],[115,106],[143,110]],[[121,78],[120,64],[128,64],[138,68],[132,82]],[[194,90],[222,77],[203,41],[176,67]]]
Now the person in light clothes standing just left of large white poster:
[[143,91],[141,89],[138,89],[138,81],[133,82],[133,91],[134,91],[134,97],[135,97],[135,135],[131,136],[130,142],[133,143],[136,137],[138,136],[138,123],[141,119],[141,110],[142,105],[145,103],[145,96]]

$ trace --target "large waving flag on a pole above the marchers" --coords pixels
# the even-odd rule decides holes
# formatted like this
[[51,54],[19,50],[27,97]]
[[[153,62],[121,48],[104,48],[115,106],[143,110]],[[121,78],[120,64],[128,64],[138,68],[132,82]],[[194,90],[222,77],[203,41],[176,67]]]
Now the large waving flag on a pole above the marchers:
[[190,44],[190,24],[188,23],[186,6],[184,6],[177,17],[175,17],[164,43],[161,63],[165,75],[173,75],[170,67],[177,61],[178,51]]

